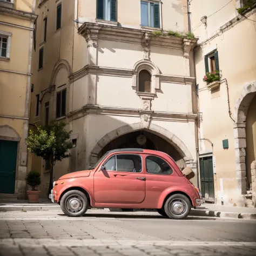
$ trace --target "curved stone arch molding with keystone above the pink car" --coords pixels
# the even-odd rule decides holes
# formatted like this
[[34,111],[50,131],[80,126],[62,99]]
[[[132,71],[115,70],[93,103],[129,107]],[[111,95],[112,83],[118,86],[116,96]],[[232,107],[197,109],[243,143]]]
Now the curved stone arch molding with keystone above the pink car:
[[[145,115],[146,114],[144,114],[144,116]],[[146,119],[149,120],[148,117]],[[108,143],[110,143],[113,139],[116,139],[124,134],[134,132],[134,131],[139,131],[139,130],[146,130],[146,131],[152,132],[152,133],[156,134],[157,136],[165,139],[172,146],[174,146],[174,148],[184,158],[186,163],[188,163],[188,162],[193,163],[193,157],[192,157],[190,151],[188,151],[186,145],[175,134],[173,134],[172,132],[170,132],[156,124],[150,124],[150,126],[147,129],[145,129],[143,127],[143,123],[140,122],[140,123],[128,124],[128,125],[119,127],[117,129],[105,134],[105,136],[99,140],[99,142],[95,145],[95,147],[91,151],[90,165],[93,165],[96,163],[96,161],[98,159],[95,156],[98,156],[98,154],[103,149],[103,147],[106,146]]]

